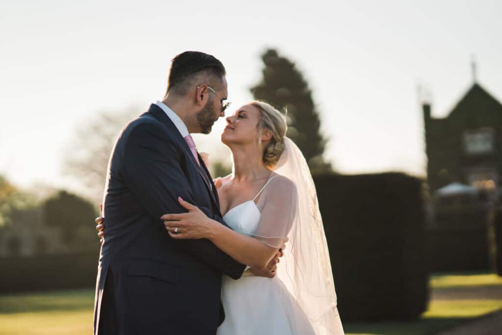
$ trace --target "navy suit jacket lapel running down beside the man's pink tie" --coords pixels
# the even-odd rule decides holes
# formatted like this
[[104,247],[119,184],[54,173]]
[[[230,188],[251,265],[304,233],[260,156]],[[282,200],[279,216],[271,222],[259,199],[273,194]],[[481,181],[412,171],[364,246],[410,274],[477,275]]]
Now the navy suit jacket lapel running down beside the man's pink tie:
[[[168,130],[170,130],[170,133],[173,135],[174,139],[178,142],[178,145],[185,151],[185,154],[189,157],[190,161],[193,164],[193,168],[197,170],[199,173],[200,177],[204,181],[204,185],[206,186],[207,192],[209,193],[211,200],[213,201],[213,204],[215,208],[217,209],[217,212],[219,212],[219,199],[217,193],[215,194],[216,188],[214,187],[214,184],[211,180],[210,174],[207,171],[207,168],[204,164],[204,161],[199,155],[199,162],[201,164],[199,165],[197,161],[195,160],[195,157],[192,154],[192,151],[188,147],[188,145],[185,142],[185,139],[181,136],[180,132],[174,125],[174,123],[169,119],[169,117],[166,115],[164,110],[162,110],[161,107],[158,105],[152,103],[150,105],[150,109],[148,110],[148,113],[152,114],[157,120],[159,120]],[[198,155],[198,153],[197,153]],[[220,215],[221,216],[221,215]]]

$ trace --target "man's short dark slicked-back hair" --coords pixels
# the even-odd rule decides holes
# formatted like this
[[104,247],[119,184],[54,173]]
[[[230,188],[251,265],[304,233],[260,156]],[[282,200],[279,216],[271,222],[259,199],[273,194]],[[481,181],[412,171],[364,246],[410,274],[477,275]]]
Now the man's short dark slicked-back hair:
[[185,95],[196,84],[195,80],[204,80],[200,84],[206,83],[218,90],[225,73],[225,67],[214,56],[199,51],[185,51],[172,60],[166,95],[171,91]]

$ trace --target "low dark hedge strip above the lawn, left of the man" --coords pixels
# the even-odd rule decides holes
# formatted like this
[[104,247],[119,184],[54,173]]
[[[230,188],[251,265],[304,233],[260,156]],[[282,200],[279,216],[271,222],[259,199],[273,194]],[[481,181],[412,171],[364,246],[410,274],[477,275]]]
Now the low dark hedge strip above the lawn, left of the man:
[[91,288],[99,254],[0,258],[0,293]]

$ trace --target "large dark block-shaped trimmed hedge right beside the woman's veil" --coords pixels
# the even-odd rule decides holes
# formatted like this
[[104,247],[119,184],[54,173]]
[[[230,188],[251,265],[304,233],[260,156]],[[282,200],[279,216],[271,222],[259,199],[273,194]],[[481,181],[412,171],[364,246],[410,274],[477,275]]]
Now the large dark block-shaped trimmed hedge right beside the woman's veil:
[[342,320],[412,319],[429,297],[421,180],[314,177]]

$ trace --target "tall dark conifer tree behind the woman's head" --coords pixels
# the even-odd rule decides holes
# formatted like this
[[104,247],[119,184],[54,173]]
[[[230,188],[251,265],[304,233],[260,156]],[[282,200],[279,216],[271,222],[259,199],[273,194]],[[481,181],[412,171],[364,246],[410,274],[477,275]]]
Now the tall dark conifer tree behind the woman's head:
[[331,164],[322,155],[326,139],[320,133],[319,114],[302,73],[286,57],[275,49],[268,49],[262,55],[265,65],[262,80],[251,93],[255,99],[264,100],[279,109],[288,111],[288,133],[300,148],[312,171],[331,171]]

